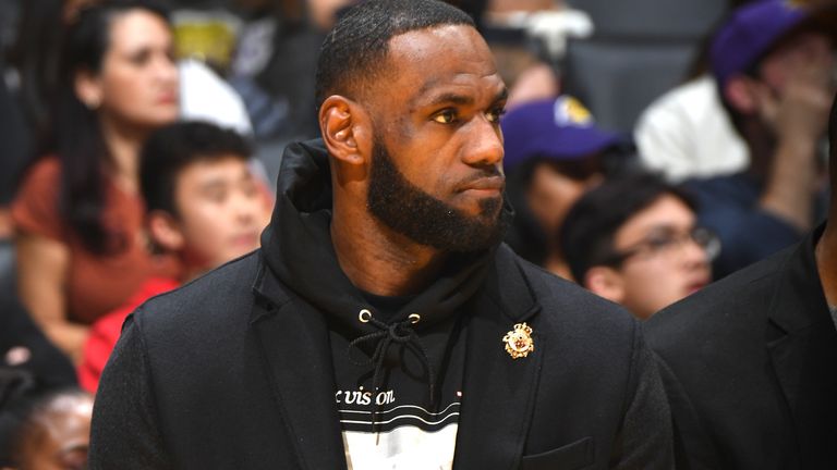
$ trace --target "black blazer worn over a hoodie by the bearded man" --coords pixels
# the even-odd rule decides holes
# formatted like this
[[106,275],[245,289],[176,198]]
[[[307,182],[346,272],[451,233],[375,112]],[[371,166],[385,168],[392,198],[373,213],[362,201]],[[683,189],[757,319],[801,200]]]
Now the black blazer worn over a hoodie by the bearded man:
[[[476,295],[454,468],[671,467],[629,314],[506,247]],[[90,468],[345,468],[326,319],[258,252],[148,301],[102,375]],[[535,350],[512,360],[501,338],[523,321]]]

